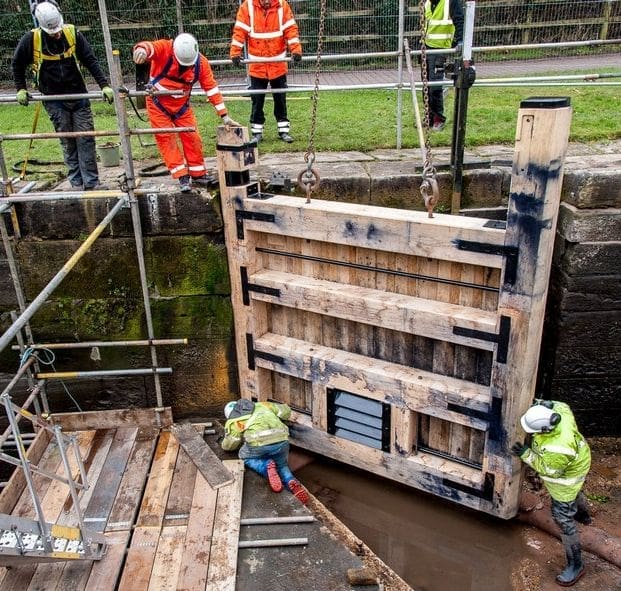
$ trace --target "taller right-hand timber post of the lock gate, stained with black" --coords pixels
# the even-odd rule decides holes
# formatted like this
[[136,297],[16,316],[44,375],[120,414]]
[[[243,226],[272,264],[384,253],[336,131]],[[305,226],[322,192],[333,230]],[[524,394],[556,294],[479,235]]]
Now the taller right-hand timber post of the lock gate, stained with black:
[[524,440],[519,418],[535,395],[570,123],[568,98],[520,104],[491,374],[492,408],[500,420],[487,434],[483,467],[495,476],[504,517],[519,505],[521,462],[509,450]]

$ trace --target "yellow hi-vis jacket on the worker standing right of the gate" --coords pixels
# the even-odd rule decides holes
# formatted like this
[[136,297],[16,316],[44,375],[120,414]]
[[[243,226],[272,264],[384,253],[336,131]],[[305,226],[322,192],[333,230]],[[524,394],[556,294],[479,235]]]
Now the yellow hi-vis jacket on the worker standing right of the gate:
[[591,450],[569,406],[554,402],[553,410],[561,415],[560,423],[550,433],[535,433],[532,449],[521,459],[539,474],[553,499],[569,502],[584,484],[591,467]]

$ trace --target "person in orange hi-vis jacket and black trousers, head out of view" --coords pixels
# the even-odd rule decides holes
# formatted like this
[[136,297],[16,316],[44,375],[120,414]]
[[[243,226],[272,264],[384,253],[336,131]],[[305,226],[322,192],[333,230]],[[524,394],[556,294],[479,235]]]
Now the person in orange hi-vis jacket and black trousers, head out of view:
[[[229,57],[241,65],[244,44],[248,43],[248,59],[285,58],[287,50],[294,62],[302,59],[302,45],[298,25],[286,0],[244,0],[237,11]],[[274,89],[287,88],[286,61],[251,63],[248,67],[250,90],[265,90],[268,85]],[[278,123],[278,137],[287,143],[293,138],[289,134],[287,99],[284,92],[273,92],[274,117]],[[250,131],[260,142],[263,138],[265,115],[263,105],[265,94],[252,95]]]

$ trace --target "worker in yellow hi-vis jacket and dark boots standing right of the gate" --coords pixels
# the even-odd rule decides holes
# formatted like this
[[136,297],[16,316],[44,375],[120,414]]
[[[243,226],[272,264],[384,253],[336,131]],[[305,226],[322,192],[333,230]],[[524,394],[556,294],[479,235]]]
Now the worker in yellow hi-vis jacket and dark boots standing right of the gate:
[[514,443],[511,451],[530,466],[552,497],[552,517],[559,526],[567,565],[556,577],[570,587],[584,574],[576,521],[591,523],[582,486],[591,467],[591,450],[564,402],[536,400],[520,419],[531,445]]

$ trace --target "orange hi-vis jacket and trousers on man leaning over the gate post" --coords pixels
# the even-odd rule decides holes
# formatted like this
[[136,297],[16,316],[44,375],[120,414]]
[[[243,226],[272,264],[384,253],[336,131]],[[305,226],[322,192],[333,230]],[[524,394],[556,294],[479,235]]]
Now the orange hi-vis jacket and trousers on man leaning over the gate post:
[[[147,113],[154,128],[194,127],[198,128],[196,117],[190,106],[192,86],[198,82],[207,93],[209,102],[220,117],[227,114],[224,99],[213,75],[207,58],[200,54],[194,66],[182,66],[173,53],[172,39],[140,41],[134,50],[142,47],[151,62],[149,83],[154,90],[179,90],[179,95],[148,96]],[[179,141],[183,152],[179,149]],[[160,154],[173,178],[189,174],[200,177],[206,174],[203,144],[197,131],[156,133]]]

